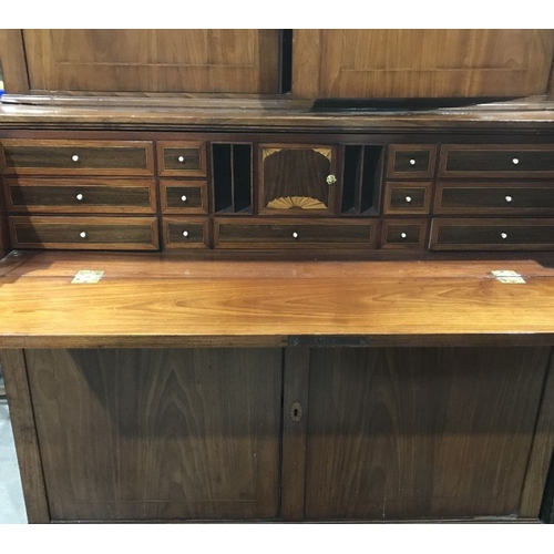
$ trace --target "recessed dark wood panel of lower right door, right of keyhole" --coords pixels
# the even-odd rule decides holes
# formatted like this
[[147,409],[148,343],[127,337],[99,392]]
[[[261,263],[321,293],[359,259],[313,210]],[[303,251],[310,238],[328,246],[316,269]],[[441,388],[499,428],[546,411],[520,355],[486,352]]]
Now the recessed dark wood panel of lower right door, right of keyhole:
[[306,519],[517,515],[548,355],[312,349]]

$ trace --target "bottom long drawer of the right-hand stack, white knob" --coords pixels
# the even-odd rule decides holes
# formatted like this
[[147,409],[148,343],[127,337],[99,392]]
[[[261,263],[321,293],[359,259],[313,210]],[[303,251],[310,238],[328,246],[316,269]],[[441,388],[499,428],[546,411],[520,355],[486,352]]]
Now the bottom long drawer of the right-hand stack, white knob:
[[552,250],[552,219],[433,219],[432,250]]

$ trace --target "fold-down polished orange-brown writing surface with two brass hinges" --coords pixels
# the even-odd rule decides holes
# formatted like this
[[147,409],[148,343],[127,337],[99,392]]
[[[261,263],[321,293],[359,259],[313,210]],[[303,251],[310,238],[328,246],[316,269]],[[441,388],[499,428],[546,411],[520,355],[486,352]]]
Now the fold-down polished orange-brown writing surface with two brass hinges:
[[[72,285],[80,269],[104,270]],[[519,270],[524,285],[493,269]],[[554,270],[532,261],[197,261],[52,253],[0,264],[0,346],[553,343]]]

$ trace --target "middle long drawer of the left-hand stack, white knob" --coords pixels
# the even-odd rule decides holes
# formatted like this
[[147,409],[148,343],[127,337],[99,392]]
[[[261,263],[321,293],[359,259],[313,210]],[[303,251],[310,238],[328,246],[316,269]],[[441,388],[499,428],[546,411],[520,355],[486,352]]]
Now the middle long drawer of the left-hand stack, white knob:
[[6,206],[12,213],[129,213],[156,211],[154,181],[7,178]]

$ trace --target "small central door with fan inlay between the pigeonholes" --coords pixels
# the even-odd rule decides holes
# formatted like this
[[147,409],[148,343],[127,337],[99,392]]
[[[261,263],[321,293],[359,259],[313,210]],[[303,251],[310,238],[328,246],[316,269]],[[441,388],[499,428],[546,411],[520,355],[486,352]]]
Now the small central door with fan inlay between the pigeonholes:
[[260,144],[259,213],[335,212],[337,152],[329,145]]

